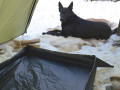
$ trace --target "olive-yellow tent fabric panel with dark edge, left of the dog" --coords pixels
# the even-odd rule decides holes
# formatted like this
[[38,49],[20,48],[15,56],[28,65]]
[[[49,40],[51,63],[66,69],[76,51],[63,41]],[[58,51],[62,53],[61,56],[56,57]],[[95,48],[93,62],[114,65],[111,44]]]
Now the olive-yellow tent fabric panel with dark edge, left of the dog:
[[23,34],[38,0],[0,0],[0,44]]

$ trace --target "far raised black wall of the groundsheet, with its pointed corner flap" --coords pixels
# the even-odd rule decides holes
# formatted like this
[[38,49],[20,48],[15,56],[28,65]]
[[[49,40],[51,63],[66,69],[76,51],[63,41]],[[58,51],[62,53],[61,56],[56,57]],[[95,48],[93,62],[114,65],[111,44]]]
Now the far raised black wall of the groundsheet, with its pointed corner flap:
[[[96,66],[97,67],[113,67],[112,65],[97,58],[95,55],[63,53],[63,52],[51,51],[51,50],[42,49],[42,48],[35,48],[35,47],[29,46],[29,45],[26,48],[29,50],[28,53],[31,55],[32,55],[32,53],[41,51],[40,54],[43,54],[43,55],[47,54],[49,56],[49,54],[50,54],[50,55],[56,56],[56,57],[63,57],[63,58],[67,57],[72,62],[76,62],[76,63],[82,62],[82,63],[86,63],[88,65],[93,65],[94,60],[96,59]],[[36,56],[37,56],[37,53],[36,53]],[[39,56],[39,53],[38,53],[38,56]],[[57,58],[57,59],[59,59],[59,58]],[[73,59],[75,59],[75,61],[73,61]]]

